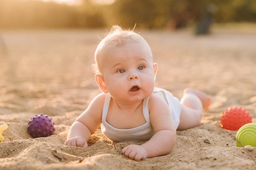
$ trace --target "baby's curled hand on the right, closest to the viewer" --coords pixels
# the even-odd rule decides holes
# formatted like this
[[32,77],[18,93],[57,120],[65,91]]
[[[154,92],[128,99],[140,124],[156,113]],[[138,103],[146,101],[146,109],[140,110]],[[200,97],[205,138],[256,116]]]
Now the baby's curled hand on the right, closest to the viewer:
[[123,154],[130,159],[139,161],[148,157],[148,152],[143,146],[140,145],[129,145],[122,150]]

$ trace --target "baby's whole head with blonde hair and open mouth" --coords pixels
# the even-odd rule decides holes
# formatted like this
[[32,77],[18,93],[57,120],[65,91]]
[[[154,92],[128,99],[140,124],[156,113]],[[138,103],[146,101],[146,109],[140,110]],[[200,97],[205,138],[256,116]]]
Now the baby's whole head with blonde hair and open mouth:
[[146,40],[113,26],[95,52],[95,80],[118,101],[144,99],[153,93],[157,64]]

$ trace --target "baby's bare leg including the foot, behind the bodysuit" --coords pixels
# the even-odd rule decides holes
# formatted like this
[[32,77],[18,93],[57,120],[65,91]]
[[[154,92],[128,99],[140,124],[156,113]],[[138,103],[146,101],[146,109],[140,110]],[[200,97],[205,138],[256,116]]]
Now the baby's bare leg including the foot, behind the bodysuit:
[[202,110],[209,110],[211,97],[205,93],[186,88],[180,101],[182,104],[178,130],[185,130],[201,124]]

